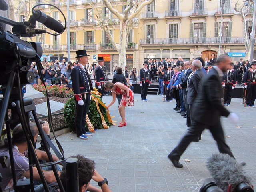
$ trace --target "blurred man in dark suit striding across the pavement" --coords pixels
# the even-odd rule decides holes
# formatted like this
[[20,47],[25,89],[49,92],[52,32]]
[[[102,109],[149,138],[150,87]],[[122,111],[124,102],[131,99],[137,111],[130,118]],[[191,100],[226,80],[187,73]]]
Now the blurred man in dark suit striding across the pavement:
[[233,123],[238,122],[238,116],[224,108],[220,100],[222,97],[221,82],[223,73],[227,71],[230,62],[231,59],[228,56],[220,55],[215,63],[216,66],[212,68],[211,72],[202,81],[200,92],[191,108],[192,127],[181,139],[178,146],[168,155],[168,158],[175,167],[183,167],[179,162],[180,156],[184,153],[190,142],[196,140],[198,134],[204,129],[210,130],[214,140],[217,142],[220,153],[228,154],[234,158],[225,142],[224,132],[220,124],[220,116],[228,117]]

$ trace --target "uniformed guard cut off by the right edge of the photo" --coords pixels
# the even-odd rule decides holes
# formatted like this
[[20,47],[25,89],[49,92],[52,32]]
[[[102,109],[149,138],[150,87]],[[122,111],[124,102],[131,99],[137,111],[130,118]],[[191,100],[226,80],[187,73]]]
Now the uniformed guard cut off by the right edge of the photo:
[[244,73],[243,83],[246,91],[246,107],[255,107],[254,102],[256,99],[256,61],[251,64],[252,68]]

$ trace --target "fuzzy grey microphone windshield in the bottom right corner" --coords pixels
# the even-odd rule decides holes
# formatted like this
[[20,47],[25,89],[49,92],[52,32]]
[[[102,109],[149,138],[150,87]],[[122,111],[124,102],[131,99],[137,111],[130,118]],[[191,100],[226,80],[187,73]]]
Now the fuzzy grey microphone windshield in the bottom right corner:
[[254,192],[251,178],[243,170],[245,163],[237,163],[228,154],[212,154],[206,163],[216,185],[225,192]]

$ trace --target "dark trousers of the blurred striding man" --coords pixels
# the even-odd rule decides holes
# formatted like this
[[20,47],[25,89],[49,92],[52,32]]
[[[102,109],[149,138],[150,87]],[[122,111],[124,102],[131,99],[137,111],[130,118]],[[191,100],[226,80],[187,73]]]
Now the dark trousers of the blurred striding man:
[[214,140],[217,142],[218,149],[220,153],[228,154],[234,158],[229,146],[225,142],[224,132],[220,124],[220,119],[216,120],[213,125],[206,125],[200,122],[194,121],[192,127],[180,140],[180,143],[170,152],[170,156],[174,160],[179,160],[180,156],[185,152],[188,145],[194,140],[198,139],[198,135],[202,133],[205,129],[209,129],[212,133]]

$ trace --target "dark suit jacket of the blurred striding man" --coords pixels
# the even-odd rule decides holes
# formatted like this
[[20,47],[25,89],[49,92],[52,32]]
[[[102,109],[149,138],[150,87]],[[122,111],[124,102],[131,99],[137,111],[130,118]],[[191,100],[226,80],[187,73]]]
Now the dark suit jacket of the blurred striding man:
[[223,95],[221,82],[222,77],[215,68],[204,77],[198,97],[191,107],[190,114],[193,120],[206,125],[215,125],[219,123],[220,116],[227,117],[230,114],[220,99]]

